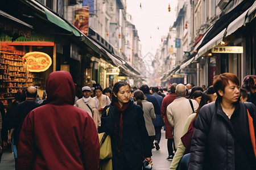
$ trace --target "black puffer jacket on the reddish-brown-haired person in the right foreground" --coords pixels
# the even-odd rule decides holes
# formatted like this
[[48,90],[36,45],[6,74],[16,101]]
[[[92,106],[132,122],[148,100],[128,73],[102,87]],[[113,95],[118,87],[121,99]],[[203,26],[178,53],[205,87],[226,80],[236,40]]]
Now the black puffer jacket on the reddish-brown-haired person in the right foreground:
[[[251,106],[255,113],[255,106]],[[236,124],[222,111],[218,100],[200,109],[191,142],[189,170],[256,169],[247,111],[241,101],[237,102],[232,118]]]

